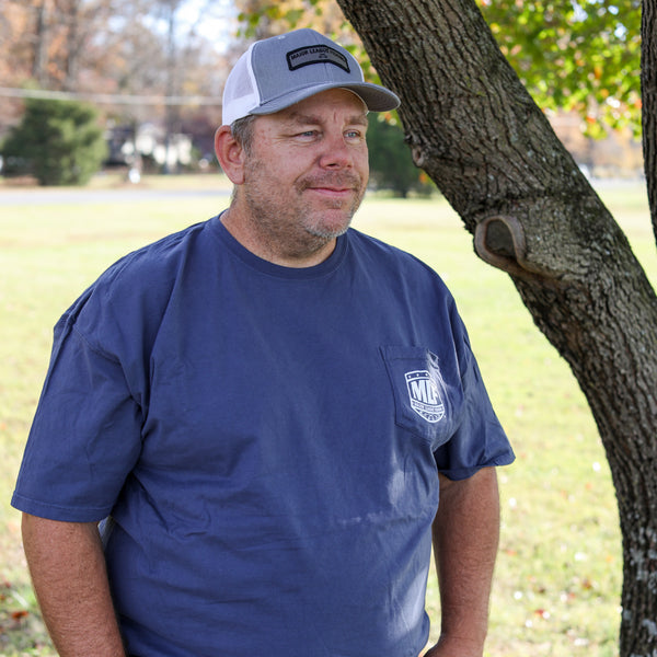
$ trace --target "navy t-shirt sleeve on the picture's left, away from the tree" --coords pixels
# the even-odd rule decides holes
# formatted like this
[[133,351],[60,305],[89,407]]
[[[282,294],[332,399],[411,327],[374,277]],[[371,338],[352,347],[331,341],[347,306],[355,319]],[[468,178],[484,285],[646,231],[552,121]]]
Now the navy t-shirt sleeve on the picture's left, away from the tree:
[[141,448],[141,410],[120,362],[65,315],[12,505],[51,520],[96,521],[110,514]]

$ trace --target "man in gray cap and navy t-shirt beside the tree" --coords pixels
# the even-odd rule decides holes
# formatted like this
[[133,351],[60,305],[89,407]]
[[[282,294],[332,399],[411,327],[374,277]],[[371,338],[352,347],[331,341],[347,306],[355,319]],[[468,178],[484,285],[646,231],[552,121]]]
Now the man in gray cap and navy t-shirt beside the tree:
[[440,279],[348,229],[396,105],[315,32],[256,43],[229,209],[58,323],[13,504],[62,656],[416,657],[433,533],[427,655],[481,657],[512,452]]

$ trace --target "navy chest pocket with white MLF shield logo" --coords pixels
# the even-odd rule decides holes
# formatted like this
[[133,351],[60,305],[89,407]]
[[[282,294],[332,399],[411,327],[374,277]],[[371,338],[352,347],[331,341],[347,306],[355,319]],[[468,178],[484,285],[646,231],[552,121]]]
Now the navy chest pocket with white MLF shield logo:
[[453,435],[463,407],[456,355],[439,359],[424,347],[382,346],[395,423],[438,449]]

